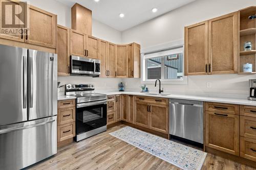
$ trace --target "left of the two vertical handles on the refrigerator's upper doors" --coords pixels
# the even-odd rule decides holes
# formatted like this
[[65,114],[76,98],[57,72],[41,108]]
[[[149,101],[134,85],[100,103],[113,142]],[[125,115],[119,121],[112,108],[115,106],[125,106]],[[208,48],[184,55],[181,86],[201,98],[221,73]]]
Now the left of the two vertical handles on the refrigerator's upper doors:
[[27,56],[23,56],[23,108],[27,108],[28,98],[28,61]]

